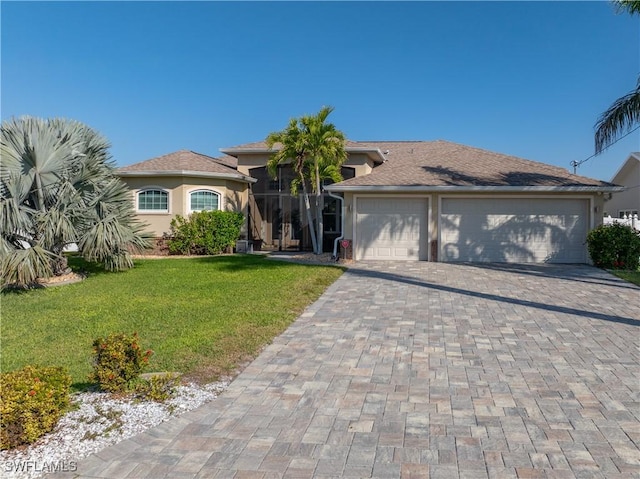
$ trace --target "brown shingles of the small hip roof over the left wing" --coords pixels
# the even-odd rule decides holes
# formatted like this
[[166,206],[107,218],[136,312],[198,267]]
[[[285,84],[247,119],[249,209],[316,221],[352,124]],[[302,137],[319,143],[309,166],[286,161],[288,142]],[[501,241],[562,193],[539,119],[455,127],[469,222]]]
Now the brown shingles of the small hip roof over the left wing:
[[180,150],[119,168],[118,172],[196,171],[238,175],[239,173],[235,168],[236,164],[237,159],[231,156],[225,155],[222,158],[213,158],[190,150]]

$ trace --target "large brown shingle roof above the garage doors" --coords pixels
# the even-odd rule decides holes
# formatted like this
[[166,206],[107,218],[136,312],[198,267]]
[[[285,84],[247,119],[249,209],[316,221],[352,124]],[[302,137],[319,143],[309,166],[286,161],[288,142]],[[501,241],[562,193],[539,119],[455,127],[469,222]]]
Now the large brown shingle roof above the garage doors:
[[448,141],[353,142],[384,152],[368,174],[328,186],[329,191],[620,191],[557,166]]

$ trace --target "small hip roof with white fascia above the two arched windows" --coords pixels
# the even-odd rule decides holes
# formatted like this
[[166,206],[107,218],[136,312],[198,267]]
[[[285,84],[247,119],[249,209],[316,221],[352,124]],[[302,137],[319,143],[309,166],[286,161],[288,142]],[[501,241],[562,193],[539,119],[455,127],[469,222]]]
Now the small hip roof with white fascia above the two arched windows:
[[119,168],[116,173],[120,176],[206,176],[255,183],[254,178],[236,170],[236,161],[230,156],[213,158],[190,150],[180,150]]

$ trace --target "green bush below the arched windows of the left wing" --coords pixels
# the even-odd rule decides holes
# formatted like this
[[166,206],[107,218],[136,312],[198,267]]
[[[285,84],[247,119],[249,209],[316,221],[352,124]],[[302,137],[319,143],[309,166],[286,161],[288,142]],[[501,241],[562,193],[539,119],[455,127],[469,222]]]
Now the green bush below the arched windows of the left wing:
[[171,220],[171,254],[220,254],[235,245],[244,217],[233,211],[201,211]]

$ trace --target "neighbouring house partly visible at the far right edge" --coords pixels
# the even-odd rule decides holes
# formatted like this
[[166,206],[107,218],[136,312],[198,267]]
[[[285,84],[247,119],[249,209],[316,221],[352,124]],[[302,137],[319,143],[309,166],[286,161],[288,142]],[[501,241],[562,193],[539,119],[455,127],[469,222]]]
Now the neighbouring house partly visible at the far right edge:
[[631,153],[611,183],[624,186],[605,204],[605,211],[613,218],[633,217],[640,214],[640,152]]

